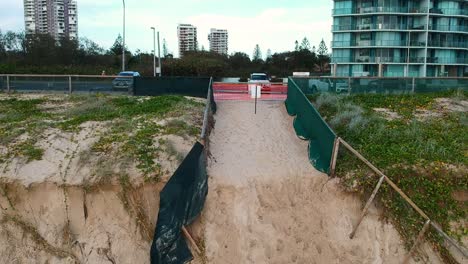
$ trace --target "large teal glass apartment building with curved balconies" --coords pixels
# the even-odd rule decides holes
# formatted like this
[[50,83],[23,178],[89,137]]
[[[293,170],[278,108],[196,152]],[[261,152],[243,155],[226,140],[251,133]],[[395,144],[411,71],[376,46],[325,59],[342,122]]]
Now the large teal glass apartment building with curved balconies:
[[332,32],[336,76],[468,72],[466,0],[334,0]]

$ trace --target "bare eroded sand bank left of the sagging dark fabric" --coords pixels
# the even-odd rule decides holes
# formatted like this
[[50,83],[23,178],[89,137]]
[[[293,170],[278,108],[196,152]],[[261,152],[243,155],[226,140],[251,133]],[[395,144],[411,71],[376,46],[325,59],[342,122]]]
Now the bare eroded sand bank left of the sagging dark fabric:
[[[145,182],[136,164],[119,182],[120,164],[100,168],[89,154],[105,124],[84,123],[77,133],[50,128],[39,137],[42,160],[0,163],[0,263],[149,263],[159,193],[178,167],[161,154],[161,182]],[[185,156],[194,138],[163,137]],[[156,143],[155,143],[156,144]],[[84,158],[83,156],[87,156]],[[111,160],[110,155],[103,158]],[[99,178],[99,170],[110,173]],[[107,174],[106,174],[107,175]]]

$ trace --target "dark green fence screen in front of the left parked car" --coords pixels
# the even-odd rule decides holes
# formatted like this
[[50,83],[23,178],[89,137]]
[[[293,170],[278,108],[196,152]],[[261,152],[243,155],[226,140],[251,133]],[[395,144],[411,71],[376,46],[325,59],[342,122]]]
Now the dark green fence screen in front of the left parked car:
[[141,96],[164,94],[206,98],[210,77],[136,77],[133,93]]

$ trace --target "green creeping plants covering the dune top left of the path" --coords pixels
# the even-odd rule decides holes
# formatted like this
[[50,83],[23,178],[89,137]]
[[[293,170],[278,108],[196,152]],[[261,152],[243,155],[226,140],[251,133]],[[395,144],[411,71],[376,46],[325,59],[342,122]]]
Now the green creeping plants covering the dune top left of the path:
[[[200,133],[204,104],[183,96],[114,97],[41,96],[41,99],[5,96],[0,98],[0,161],[24,157],[26,162],[41,160],[44,150],[38,146],[48,128],[76,134],[86,122],[101,122],[104,127],[91,150],[80,154],[84,163],[94,154],[99,168],[94,172],[104,181],[114,174],[115,164],[135,162],[147,180],[157,180],[159,155],[174,150],[158,146],[158,137],[178,135],[196,137]],[[158,123],[162,122],[162,123]],[[166,144],[168,145],[168,144]]]

